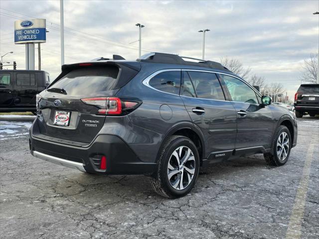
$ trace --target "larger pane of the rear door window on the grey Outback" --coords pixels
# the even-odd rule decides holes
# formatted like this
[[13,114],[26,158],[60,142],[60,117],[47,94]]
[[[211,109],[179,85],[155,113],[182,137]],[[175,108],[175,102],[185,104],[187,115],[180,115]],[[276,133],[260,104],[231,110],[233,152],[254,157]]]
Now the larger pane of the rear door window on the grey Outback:
[[188,72],[198,98],[224,101],[225,96],[215,73]]

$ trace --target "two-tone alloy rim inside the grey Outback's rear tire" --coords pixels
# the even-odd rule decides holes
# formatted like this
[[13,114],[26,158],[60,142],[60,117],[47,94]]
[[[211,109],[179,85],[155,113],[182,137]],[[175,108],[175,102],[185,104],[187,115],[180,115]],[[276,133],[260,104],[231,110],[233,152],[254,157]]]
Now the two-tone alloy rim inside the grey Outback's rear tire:
[[180,146],[171,154],[167,165],[167,177],[176,190],[188,187],[195,173],[195,158],[190,148]]

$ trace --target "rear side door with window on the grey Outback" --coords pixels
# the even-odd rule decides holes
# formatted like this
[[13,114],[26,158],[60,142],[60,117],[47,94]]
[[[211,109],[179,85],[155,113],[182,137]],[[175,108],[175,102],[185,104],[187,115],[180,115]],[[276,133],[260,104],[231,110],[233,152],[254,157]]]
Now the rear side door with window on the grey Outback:
[[220,161],[235,148],[236,112],[226,101],[215,73],[182,70],[181,98],[206,140],[206,157]]

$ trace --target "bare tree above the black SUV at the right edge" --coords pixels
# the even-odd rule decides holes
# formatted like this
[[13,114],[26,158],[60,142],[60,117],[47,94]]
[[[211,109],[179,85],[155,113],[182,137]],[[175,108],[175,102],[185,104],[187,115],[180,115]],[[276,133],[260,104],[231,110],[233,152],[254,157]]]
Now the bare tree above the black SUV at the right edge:
[[317,83],[318,54],[311,54],[310,59],[304,61],[300,80],[309,83]]

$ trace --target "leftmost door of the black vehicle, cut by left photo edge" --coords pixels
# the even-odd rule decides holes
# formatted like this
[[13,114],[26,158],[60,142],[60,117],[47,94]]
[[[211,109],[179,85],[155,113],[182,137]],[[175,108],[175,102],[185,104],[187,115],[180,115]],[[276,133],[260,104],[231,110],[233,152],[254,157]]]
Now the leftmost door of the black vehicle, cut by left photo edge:
[[9,107],[13,100],[12,74],[9,72],[0,73],[0,106]]

